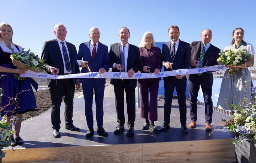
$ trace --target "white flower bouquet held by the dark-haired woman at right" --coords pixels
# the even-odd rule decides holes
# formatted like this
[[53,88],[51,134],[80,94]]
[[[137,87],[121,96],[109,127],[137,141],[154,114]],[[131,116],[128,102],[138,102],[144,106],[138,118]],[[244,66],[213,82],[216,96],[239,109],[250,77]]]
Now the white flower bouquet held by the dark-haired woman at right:
[[250,65],[249,58],[252,57],[251,54],[247,54],[247,50],[243,49],[230,49],[219,53],[219,58],[217,59],[218,64],[230,67],[229,74],[233,75],[237,72],[232,68],[245,68]]

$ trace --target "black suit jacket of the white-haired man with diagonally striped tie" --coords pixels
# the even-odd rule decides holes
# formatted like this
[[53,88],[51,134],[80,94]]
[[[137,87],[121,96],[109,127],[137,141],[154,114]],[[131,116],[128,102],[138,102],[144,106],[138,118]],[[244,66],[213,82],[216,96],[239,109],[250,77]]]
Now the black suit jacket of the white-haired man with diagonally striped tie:
[[[69,59],[70,59],[72,74],[79,74],[80,73],[79,67],[74,64],[74,58],[77,55],[76,47],[75,45],[69,42],[66,42],[66,44],[69,51]],[[47,74],[51,74],[48,71],[49,66],[59,69],[59,75],[64,74],[64,64],[63,64],[62,54],[61,54],[57,39],[44,42],[44,45],[42,48],[41,60],[42,59],[45,60],[44,70],[47,72]],[[63,82],[63,79],[58,79],[57,84],[56,84],[56,81],[54,81],[54,79],[47,79],[48,85],[59,86],[59,85],[62,85],[62,82]],[[75,79],[73,79],[73,82],[75,84]]]

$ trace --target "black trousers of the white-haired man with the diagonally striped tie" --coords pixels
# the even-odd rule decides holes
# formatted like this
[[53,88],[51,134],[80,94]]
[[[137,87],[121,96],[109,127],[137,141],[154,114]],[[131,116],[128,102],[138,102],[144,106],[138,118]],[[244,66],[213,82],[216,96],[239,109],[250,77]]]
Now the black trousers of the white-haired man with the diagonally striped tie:
[[[58,80],[58,79],[57,79]],[[75,85],[73,79],[62,79],[63,83],[59,86],[48,85],[52,100],[51,120],[53,129],[60,129],[60,105],[64,96],[64,116],[66,126],[73,127],[73,100],[75,93]]]

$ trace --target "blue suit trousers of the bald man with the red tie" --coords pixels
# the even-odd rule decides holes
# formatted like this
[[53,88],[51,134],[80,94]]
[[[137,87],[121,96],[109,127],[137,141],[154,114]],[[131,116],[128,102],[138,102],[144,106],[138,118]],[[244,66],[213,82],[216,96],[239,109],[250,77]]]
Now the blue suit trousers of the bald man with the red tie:
[[89,84],[82,84],[85,100],[85,116],[89,129],[93,129],[94,126],[94,119],[92,115],[93,91],[95,92],[97,126],[98,128],[103,126],[103,98],[105,85],[97,85],[95,80],[97,79],[92,78]]

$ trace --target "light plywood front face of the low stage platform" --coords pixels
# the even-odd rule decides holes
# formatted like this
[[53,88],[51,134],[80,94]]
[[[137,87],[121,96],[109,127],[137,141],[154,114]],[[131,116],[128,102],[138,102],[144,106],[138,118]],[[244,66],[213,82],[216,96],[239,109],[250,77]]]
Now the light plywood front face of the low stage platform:
[[138,143],[125,145],[8,149],[3,162],[235,162],[233,139]]

